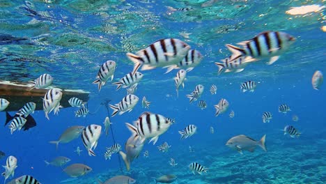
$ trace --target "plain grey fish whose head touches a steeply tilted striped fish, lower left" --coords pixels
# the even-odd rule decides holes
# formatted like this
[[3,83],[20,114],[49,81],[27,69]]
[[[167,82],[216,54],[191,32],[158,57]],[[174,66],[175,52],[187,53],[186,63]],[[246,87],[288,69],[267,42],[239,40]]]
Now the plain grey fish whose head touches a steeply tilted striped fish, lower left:
[[58,141],[49,141],[49,143],[56,144],[56,149],[58,149],[59,143],[68,143],[74,139],[77,139],[81,132],[83,132],[84,128],[84,126],[72,126],[67,128],[61,134]]

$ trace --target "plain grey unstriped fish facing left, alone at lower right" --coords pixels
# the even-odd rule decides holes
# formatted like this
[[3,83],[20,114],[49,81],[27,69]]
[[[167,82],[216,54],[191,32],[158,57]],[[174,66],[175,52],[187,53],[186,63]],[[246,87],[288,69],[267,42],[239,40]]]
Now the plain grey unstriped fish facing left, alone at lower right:
[[260,141],[255,141],[254,139],[251,139],[250,137],[247,137],[245,135],[238,135],[229,139],[226,142],[226,146],[233,148],[241,154],[243,154],[242,150],[254,152],[256,146],[260,146],[261,148],[263,148],[264,151],[267,151],[265,146],[265,138],[266,135],[261,137]]

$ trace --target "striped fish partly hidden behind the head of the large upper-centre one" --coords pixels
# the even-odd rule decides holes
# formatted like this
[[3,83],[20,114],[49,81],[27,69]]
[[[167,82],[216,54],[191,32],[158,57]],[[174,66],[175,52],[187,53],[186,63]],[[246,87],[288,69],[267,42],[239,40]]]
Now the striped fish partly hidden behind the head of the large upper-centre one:
[[201,52],[195,49],[190,49],[182,61],[180,61],[177,65],[169,66],[165,73],[171,72],[173,69],[179,68],[187,68],[186,71],[190,72],[191,70],[194,70],[195,66],[201,63],[202,59],[203,56],[201,55]]

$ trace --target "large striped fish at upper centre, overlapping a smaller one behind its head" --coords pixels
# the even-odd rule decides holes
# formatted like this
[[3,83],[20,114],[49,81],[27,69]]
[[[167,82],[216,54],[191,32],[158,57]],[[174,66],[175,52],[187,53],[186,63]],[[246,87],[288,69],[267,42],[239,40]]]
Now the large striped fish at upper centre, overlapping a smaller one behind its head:
[[190,46],[187,43],[168,38],[157,40],[136,54],[127,53],[127,57],[134,63],[134,70],[132,71],[134,74],[141,66],[141,70],[151,70],[156,67],[176,65],[185,58],[189,49]]

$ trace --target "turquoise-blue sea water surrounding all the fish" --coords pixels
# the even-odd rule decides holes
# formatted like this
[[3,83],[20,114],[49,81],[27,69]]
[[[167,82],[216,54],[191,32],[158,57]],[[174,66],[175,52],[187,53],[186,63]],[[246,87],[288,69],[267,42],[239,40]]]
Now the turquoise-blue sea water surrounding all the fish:
[[[17,158],[15,177],[29,174],[40,183],[97,183],[116,175],[127,175],[137,183],[155,183],[151,177],[175,174],[174,183],[323,183],[326,181],[325,160],[325,86],[316,91],[311,86],[313,72],[325,73],[325,10],[306,15],[288,15],[293,6],[318,4],[325,1],[0,1],[0,79],[28,82],[42,73],[54,77],[54,85],[65,89],[90,91],[88,108],[95,114],[76,118],[76,108],[64,108],[59,116],[36,111],[32,116],[38,125],[28,131],[10,135],[8,127],[1,128],[0,151]],[[191,7],[193,10],[171,12],[173,8]],[[217,75],[214,62],[231,52],[225,44],[235,44],[253,38],[262,31],[284,31],[297,40],[279,61],[271,66],[265,60],[251,64],[243,72]],[[187,34],[188,33],[188,34]],[[4,38],[11,36],[9,41]],[[188,38],[189,35],[189,38]],[[15,40],[13,38],[26,38]],[[113,137],[102,135],[95,149],[97,156],[87,154],[80,138],[60,144],[56,151],[49,141],[59,138],[70,125],[103,125],[108,116],[101,106],[106,99],[116,104],[127,94],[116,91],[108,82],[98,92],[92,82],[107,60],[117,63],[114,82],[133,68],[127,52],[137,52],[162,38],[179,38],[198,49],[203,61],[187,73],[185,89],[176,89],[173,77],[178,70],[164,75],[166,69],[141,71],[144,74],[135,95],[140,100],[130,113],[111,118],[114,139],[123,146],[130,131],[125,123],[137,120],[146,109],[141,107],[143,96],[152,102],[150,112],[176,119],[176,123],[157,144],[145,144],[143,151],[149,158],[132,162],[130,171],[119,155],[104,160],[106,147],[114,144]],[[254,93],[240,92],[240,83],[258,82]],[[207,102],[201,110],[197,102],[189,104],[185,95],[197,84],[205,86],[199,100]],[[211,95],[210,86],[217,86]],[[1,98],[1,96],[0,96]],[[230,102],[226,113],[215,117],[221,98]],[[278,112],[281,104],[290,106],[287,114]],[[233,110],[234,118],[228,114]],[[110,109],[110,112],[112,110]],[[273,115],[270,123],[263,123],[263,112]],[[11,112],[13,114],[13,112]],[[293,121],[293,115],[299,121]],[[0,119],[6,118],[5,112]],[[194,124],[197,133],[180,140],[179,130]],[[294,125],[302,132],[299,138],[284,136],[286,125]],[[210,127],[215,129],[210,133]],[[225,146],[236,135],[259,140],[266,135],[267,152],[257,147],[254,153],[237,151]],[[158,151],[167,141],[167,153]],[[74,151],[79,146],[81,155]],[[194,152],[189,152],[189,146]],[[87,164],[91,173],[69,181],[60,167],[46,166],[44,160],[66,156],[73,163]],[[178,165],[171,167],[170,158]],[[194,175],[188,165],[199,162],[210,168],[208,174]],[[0,159],[6,163],[6,157]],[[63,167],[65,168],[65,167]],[[4,170],[4,169],[3,169]],[[8,179],[10,181],[11,179]]]

